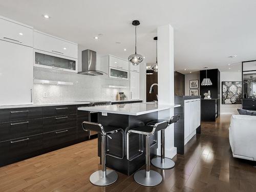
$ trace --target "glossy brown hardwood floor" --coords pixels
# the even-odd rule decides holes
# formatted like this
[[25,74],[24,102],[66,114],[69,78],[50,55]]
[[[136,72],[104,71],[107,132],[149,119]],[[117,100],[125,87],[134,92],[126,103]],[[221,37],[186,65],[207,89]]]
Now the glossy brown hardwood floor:
[[92,185],[89,177],[100,169],[94,139],[1,167],[0,191],[256,191],[256,163],[232,157],[229,119],[222,115],[216,122],[203,122],[202,134],[187,143],[184,156],[174,158],[174,168],[151,166],[163,176],[155,187],[120,173],[113,185]]

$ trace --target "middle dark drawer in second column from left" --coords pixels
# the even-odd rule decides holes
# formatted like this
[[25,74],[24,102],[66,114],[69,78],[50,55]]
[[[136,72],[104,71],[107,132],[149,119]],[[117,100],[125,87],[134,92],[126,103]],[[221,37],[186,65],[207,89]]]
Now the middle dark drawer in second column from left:
[[76,127],[76,115],[44,118],[44,133]]

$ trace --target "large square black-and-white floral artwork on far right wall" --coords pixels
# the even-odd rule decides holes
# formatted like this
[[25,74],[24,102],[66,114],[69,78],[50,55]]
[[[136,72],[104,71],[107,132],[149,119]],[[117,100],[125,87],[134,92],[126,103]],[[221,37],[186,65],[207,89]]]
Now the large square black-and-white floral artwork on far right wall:
[[242,81],[222,81],[222,104],[242,103]]

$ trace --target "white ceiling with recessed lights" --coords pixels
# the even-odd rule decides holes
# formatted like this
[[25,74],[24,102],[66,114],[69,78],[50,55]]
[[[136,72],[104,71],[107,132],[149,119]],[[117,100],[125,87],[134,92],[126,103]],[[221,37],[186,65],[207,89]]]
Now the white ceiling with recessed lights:
[[[170,24],[175,32],[175,69],[181,73],[205,66],[238,71],[237,63],[256,59],[255,0],[0,0],[0,14],[99,54],[123,58],[134,53],[131,23],[138,19],[138,53],[148,63],[155,61],[157,27]],[[103,36],[95,40],[99,33]]]

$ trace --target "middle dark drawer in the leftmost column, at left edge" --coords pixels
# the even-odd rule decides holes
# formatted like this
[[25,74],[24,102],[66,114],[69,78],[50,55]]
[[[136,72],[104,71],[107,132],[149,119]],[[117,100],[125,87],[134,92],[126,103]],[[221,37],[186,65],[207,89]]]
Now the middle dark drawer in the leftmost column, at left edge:
[[0,123],[0,141],[42,133],[42,119]]

